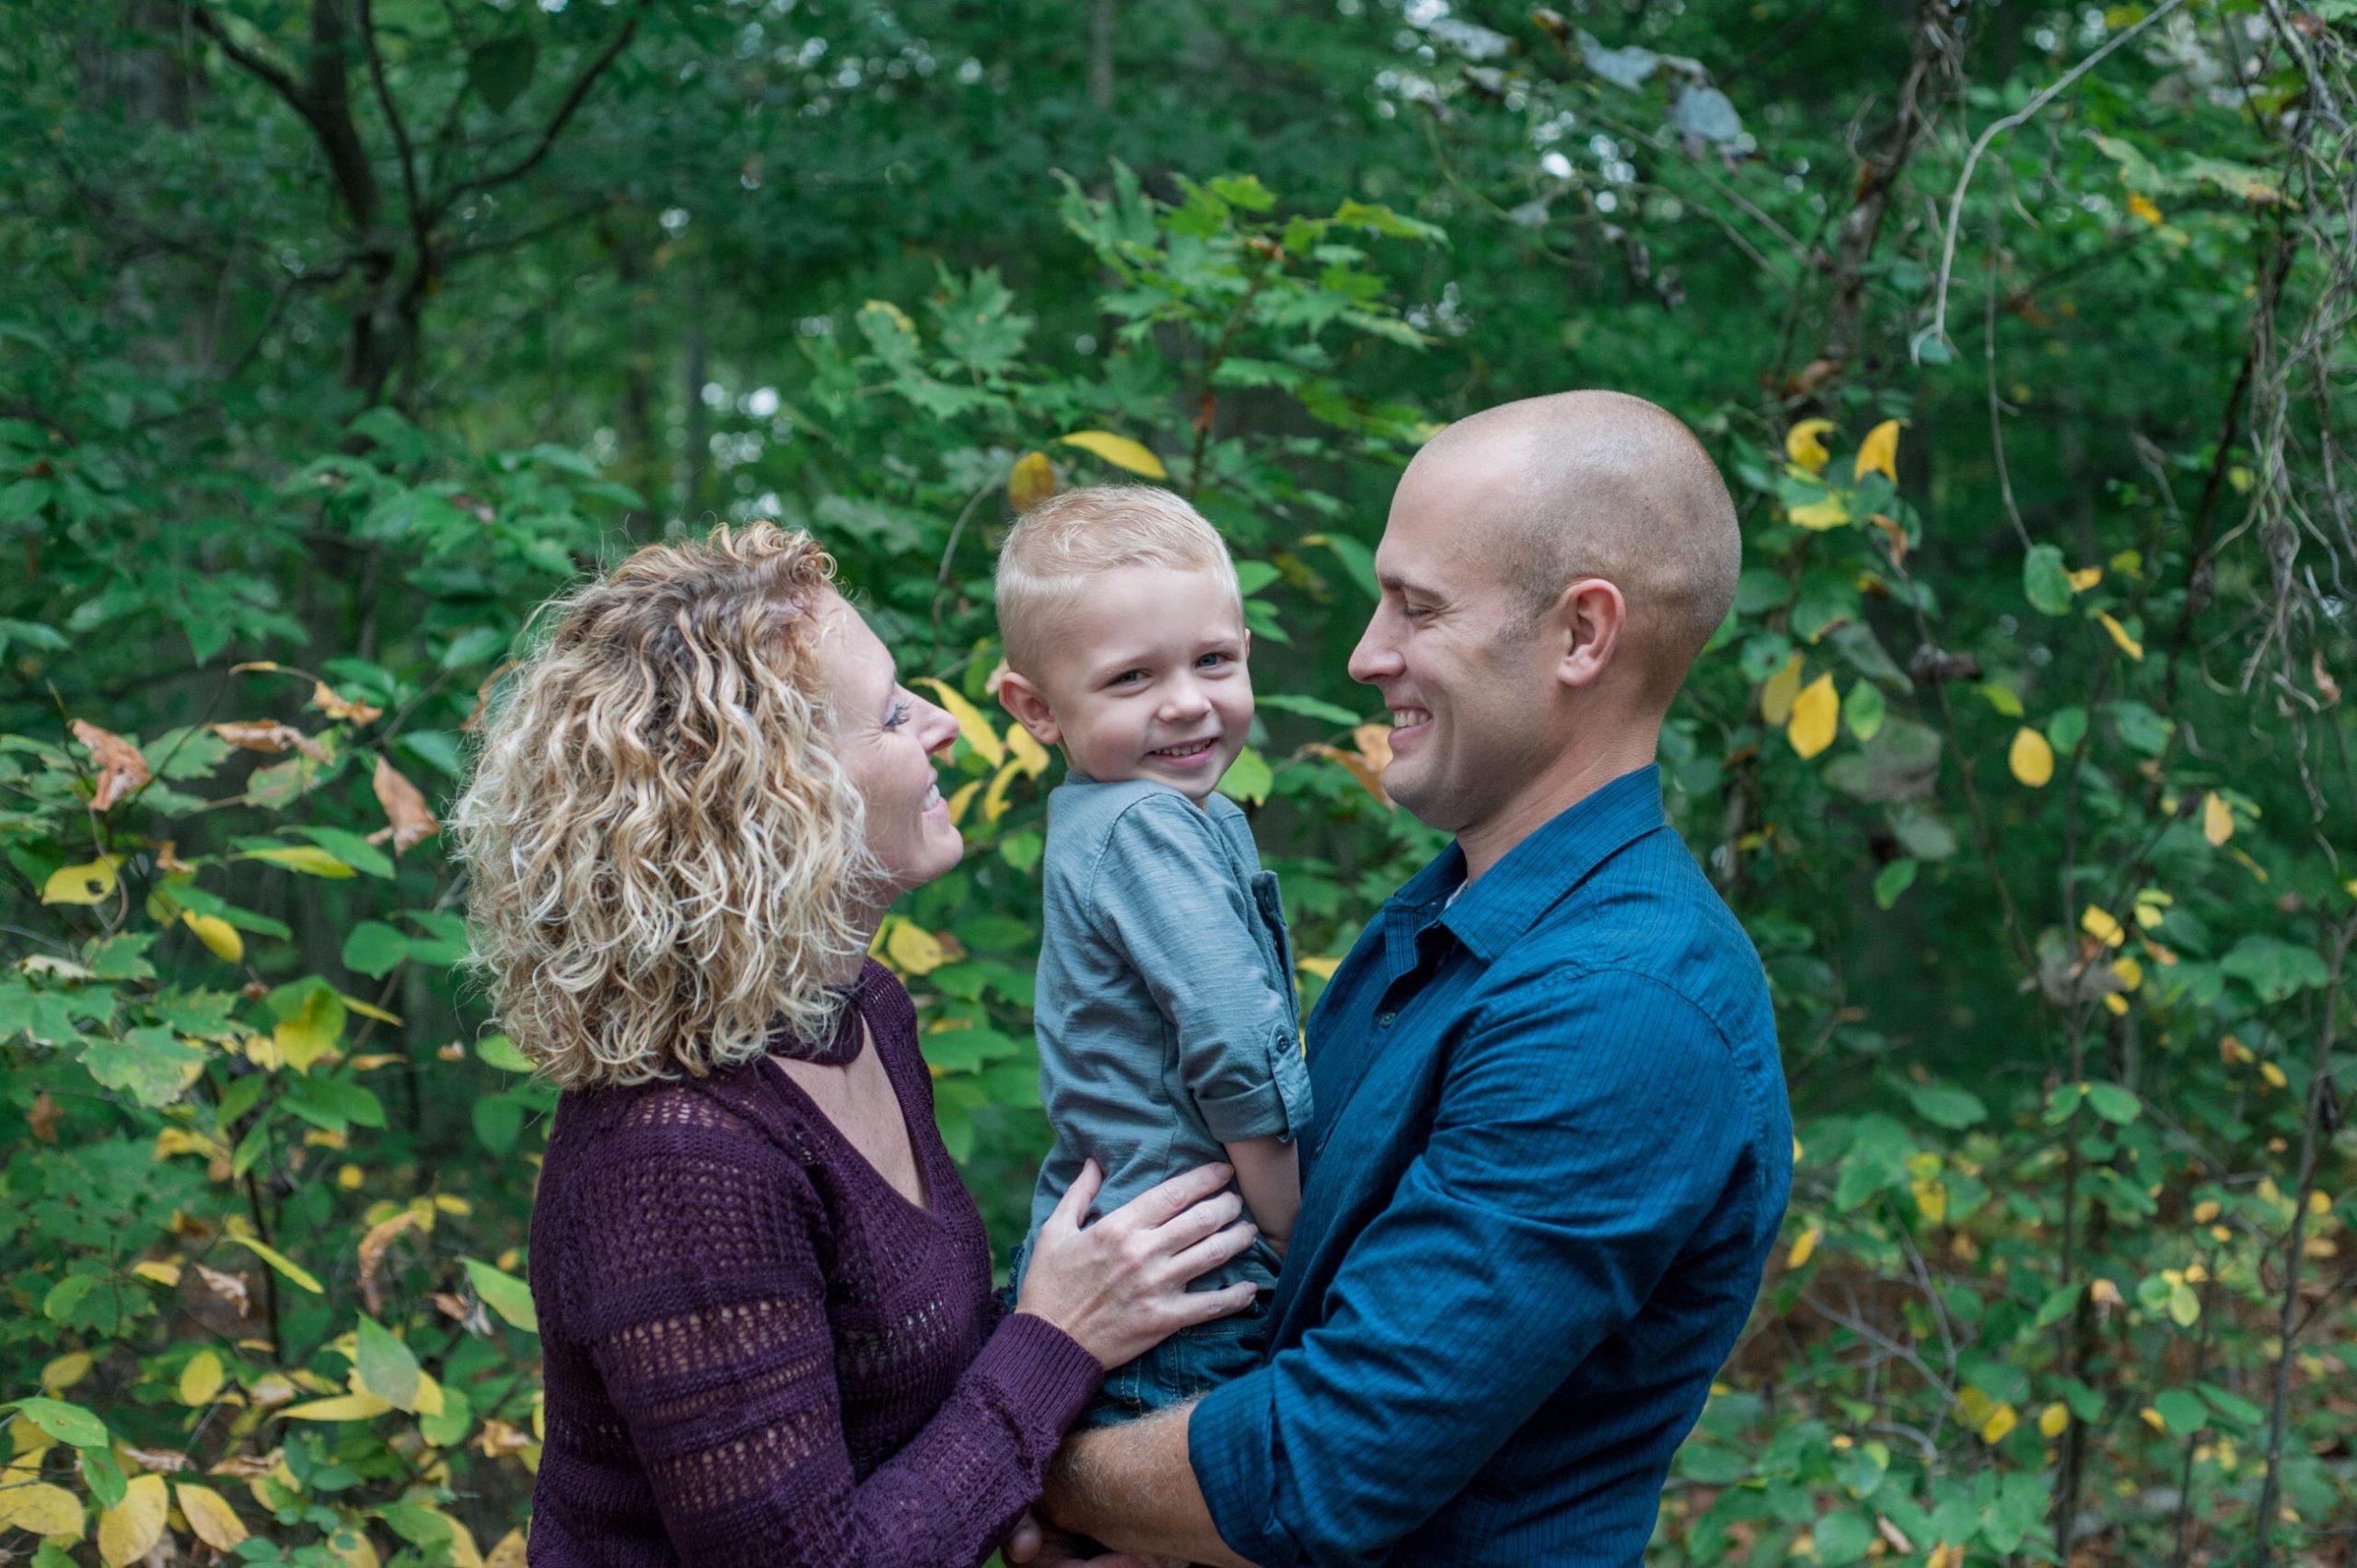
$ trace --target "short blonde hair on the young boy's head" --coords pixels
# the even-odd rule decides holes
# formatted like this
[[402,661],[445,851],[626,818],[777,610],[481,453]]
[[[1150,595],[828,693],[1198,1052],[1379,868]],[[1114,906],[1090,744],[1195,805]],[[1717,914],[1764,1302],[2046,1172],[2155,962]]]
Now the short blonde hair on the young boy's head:
[[1047,498],[999,545],[999,637],[1006,667],[1039,679],[1051,627],[1087,580],[1122,566],[1216,571],[1242,613],[1244,592],[1219,528],[1155,486],[1089,486]]

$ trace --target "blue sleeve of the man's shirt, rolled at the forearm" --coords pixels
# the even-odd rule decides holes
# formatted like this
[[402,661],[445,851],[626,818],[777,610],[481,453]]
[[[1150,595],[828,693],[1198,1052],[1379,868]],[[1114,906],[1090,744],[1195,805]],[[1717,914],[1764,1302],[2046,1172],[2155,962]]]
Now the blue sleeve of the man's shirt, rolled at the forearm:
[[1549,976],[1475,1019],[1322,1320],[1195,1405],[1226,1542],[1268,1568],[1381,1561],[1636,1316],[1747,1179],[1749,1134],[1718,1030],[1652,979]]

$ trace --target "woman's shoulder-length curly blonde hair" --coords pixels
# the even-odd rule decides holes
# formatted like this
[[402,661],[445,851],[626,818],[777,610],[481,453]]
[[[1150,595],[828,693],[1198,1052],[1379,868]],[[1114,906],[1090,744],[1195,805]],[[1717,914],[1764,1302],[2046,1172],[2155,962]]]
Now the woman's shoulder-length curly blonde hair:
[[559,1087],[827,1040],[865,946],[865,811],[832,752],[806,533],[648,545],[549,601],[453,811],[474,962]]

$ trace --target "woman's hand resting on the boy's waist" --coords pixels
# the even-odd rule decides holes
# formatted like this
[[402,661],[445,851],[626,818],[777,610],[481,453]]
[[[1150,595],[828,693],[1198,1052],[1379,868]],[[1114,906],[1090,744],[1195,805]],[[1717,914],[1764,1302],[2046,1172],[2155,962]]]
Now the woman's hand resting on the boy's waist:
[[1188,1290],[1188,1280],[1219,1269],[1256,1236],[1252,1221],[1230,1224],[1244,1212],[1242,1198],[1226,1191],[1233,1174],[1226,1165],[1197,1165],[1080,1228],[1105,1184],[1096,1160],[1087,1160],[1039,1226],[1016,1311],[1047,1318],[1101,1365],[1117,1368],[1181,1327],[1252,1306],[1252,1280]]

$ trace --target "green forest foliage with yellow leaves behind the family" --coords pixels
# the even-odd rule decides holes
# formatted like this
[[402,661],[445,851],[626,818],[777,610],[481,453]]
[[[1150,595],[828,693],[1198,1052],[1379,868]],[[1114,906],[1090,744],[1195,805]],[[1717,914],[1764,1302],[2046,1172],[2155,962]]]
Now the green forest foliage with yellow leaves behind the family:
[[966,705],[884,953],[1004,1245],[1009,483],[1228,533],[1315,995],[1438,849],[1398,469],[1619,387],[1744,512],[1664,776],[1803,1144],[1652,1561],[2348,1563],[2352,21],[5,0],[0,1551],[521,1561],[552,1096],[427,816],[547,594],[778,516]]

